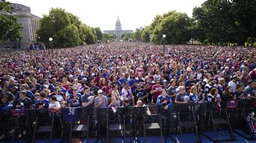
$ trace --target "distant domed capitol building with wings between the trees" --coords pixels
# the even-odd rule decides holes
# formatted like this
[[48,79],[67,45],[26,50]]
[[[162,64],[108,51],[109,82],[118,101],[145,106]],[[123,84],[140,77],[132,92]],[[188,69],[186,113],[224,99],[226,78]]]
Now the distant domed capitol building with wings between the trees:
[[119,17],[117,17],[116,28],[114,28],[114,30],[105,30],[104,33],[116,35],[117,40],[120,40],[122,34],[124,34],[124,33],[133,33],[133,30],[122,30],[121,26],[122,25],[119,20]]

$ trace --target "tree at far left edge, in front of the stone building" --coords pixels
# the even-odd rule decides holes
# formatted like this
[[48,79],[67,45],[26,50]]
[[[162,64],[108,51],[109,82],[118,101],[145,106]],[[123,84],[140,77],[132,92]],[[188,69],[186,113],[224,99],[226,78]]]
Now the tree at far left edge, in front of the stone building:
[[23,38],[21,32],[23,27],[18,23],[18,18],[11,15],[11,10],[10,2],[4,0],[0,2],[0,41],[3,43],[6,43],[7,39],[18,41]]

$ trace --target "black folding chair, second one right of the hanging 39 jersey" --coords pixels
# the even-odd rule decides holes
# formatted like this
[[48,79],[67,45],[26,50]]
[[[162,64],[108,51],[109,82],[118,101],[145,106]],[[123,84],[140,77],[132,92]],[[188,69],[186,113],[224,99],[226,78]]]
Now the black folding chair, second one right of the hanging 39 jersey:
[[159,121],[156,122],[156,123],[145,123],[145,119],[146,119],[146,116],[145,116],[145,111],[146,110],[146,107],[143,107],[143,133],[144,133],[144,142],[146,143],[147,142],[147,139],[146,139],[146,130],[153,130],[153,129],[159,129],[160,130],[160,134],[161,134],[161,142],[163,143],[164,140],[163,140],[163,130],[162,130],[162,119],[163,119],[163,116],[161,115],[161,112],[158,112],[156,115],[147,115],[147,116],[157,116],[159,118]]

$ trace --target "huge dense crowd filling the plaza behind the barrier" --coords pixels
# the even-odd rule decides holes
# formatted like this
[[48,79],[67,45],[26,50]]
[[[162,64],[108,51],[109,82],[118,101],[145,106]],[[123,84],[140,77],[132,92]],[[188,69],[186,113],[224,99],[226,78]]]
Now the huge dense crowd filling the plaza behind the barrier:
[[[256,98],[255,48],[113,42],[1,53],[0,110]],[[165,96],[166,95],[166,96]],[[168,100],[166,100],[168,97]],[[170,97],[170,99],[169,99]]]

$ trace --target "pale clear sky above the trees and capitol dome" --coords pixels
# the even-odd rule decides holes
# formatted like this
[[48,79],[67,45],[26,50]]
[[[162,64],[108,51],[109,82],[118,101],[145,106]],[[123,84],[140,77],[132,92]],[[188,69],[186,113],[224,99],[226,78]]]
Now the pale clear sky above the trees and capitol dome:
[[192,17],[195,6],[205,0],[6,0],[29,6],[33,15],[43,17],[51,8],[63,8],[78,16],[86,25],[114,30],[119,17],[123,30],[135,30],[150,25],[156,15],[171,10]]

